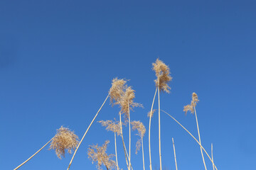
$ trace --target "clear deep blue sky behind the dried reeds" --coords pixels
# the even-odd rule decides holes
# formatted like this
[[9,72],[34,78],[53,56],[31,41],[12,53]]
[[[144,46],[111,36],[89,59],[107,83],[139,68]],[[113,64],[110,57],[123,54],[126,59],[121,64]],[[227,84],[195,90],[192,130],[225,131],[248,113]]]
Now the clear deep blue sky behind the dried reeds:
[[[255,8],[255,1],[0,1],[0,169],[21,164],[61,125],[81,138],[114,77],[130,79],[135,101],[144,105],[131,118],[148,130],[146,113],[155,90],[151,63],[157,57],[174,77],[171,94],[161,94],[161,108],[197,137],[194,115],[183,113],[196,92],[201,140],[209,153],[213,142],[218,169],[253,169]],[[117,118],[119,108],[109,103],[97,120]],[[155,167],[156,115],[152,121]],[[142,152],[134,154],[135,132],[132,137],[132,164],[142,169]],[[175,169],[174,137],[178,169],[203,169],[196,142],[164,114],[161,137],[163,167]],[[149,169],[147,138],[146,132]],[[87,147],[105,140],[114,154],[114,135],[93,124],[71,169],[96,169]],[[117,145],[119,165],[126,169],[120,139]],[[60,160],[43,149],[21,169],[66,169],[71,156]]]

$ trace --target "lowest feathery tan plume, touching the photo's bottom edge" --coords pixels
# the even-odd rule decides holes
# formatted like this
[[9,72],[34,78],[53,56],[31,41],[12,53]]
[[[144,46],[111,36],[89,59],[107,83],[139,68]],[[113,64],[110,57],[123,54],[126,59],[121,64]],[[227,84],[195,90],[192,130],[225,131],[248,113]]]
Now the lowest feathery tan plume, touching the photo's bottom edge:
[[115,169],[115,162],[112,160],[114,154],[107,154],[107,145],[110,143],[109,140],[105,141],[102,147],[98,145],[90,145],[88,149],[88,158],[92,160],[92,164],[97,162],[97,169],[102,170],[102,166],[106,166],[107,169]]

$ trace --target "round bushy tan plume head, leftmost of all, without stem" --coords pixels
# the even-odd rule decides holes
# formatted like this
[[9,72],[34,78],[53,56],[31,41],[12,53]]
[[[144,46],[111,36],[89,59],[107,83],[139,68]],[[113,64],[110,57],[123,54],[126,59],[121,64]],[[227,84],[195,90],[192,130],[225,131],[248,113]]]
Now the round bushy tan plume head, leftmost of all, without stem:
[[75,150],[76,147],[78,147],[78,143],[78,136],[68,128],[63,128],[63,126],[61,126],[53,137],[49,149],[54,149],[58,158],[61,159],[62,157],[65,157],[65,149],[71,154],[72,150]]

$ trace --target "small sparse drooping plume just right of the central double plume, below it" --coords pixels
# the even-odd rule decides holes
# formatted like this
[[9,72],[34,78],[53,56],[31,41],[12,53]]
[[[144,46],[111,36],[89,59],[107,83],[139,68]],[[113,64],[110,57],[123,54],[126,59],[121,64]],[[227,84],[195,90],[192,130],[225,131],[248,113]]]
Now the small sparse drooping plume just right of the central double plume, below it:
[[143,125],[142,122],[140,121],[132,121],[132,130],[138,130],[138,133],[137,135],[139,135],[139,137],[141,137],[140,139],[138,139],[137,143],[136,143],[136,154],[138,153],[140,147],[142,146],[142,138],[144,137],[145,135],[145,132],[146,132],[146,128],[145,126]]

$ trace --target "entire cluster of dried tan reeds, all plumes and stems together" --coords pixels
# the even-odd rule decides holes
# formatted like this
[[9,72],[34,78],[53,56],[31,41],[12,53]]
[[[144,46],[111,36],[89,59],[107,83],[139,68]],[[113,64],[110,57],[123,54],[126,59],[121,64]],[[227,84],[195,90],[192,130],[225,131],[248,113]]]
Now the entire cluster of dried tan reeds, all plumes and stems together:
[[[154,92],[153,101],[151,103],[151,109],[150,109],[149,113],[147,113],[147,117],[149,118],[149,128],[148,128],[148,132],[149,132],[149,135],[148,135],[149,136],[149,140],[148,140],[149,169],[152,170],[151,119],[153,118],[154,113],[158,110],[158,112],[159,112],[159,114],[158,114],[159,115],[158,116],[158,120],[159,120],[158,121],[159,166],[160,166],[160,170],[161,170],[162,166],[161,166],[161,122],[160,122],[161,114],[160,113],[161,112],[166,113],[166,111],[161,110],[161,107],[160,107],[160,92],[166,92],[168,94],[170,93],[171,87],[169,86],[169,83],[172,80],[172,77],[170,75],[169,67],[159,59],[156,59],[156,61],[154,63],[152,63],[152,69],[154,70],[154,73],[156,74],[156,79],[154,80],[156,89]],[[122,157],[122,159],[125,159],[127,169],[128,170],[142,169],[142,168],[133,167],[132,159],[131,159],[131,155],[132,155],[132,153],[131,153],[131,148],[132,148],[131,130],[137,130],[136,135],[139,137],[136,142],[135,154],[137,154],[139,152],[139,150],[142,149],[142,164],[143,164],[143,169],[144,170],[146,169],[145,162],[144,162],[144,136],[146,135],[146,128],[141,120],[133,120],[132,118],[134,118],[135,116],[133,117],[133,115],[132,115],[132,118],[131,118],[131,114],[130,114],[131,111],[135,110],[134,108],[137,108],[137,107],[143,108],[143,106],[140,103],[134,102],[135,91],[134,91],[134,89],[132,89],[132,86],[127,85],[127,81],[128,80],[126,80],[126,79],[117,79],[117,78],[112,79],[112,86],[110,87],[110,90],[108,91],[105,101],[100,106],[100,109],[95,114],[94,118],[92,119],[90,125],[87,127],[87,130],[85,131],[85,133],[82,136],[82,139],[80,141],[78,140],[78,136],[75,135],[75,133],[73,131],[61,126],[57,130],[55,136],[46,143],[46,145],[48,145],[50,143],[50,149],[53,149],[55,151],[55,154],[57,155],[57,157],[59,159],[62,159],[63,157],[65,157],[66,152],[71,154],[73,152],[73,150],[75,150],[73,157],[70,160],[70,163],[68,164],[68,170],[70,169],[70,166],[73,163],[73,159],[75,157],[75,154],[78,152],[78,148],[80,147],[82,140],[85,139],[85,135],[87,135],[87,132],[90,130],[92,123],[95,122],[95,119],[99,115],[102,107],[105,105],[105,102],[107,101],[108,98],[110,98],[110,104],[112,106],[119,106],[120,110],[118,111],[118,114],[116,114],[114,116],[114,118],[110,118],[110,120],[100,120],[100,121],[98,121],[98,123],[100,123],[103,127],[105,127],[105,129],[107,131],[114,132],[115,154],[107,154],[107,146],[110,144],[110,140],[105,140],[105,143],[102,146],[90,145],[90,147],[87,149],[88,158],[90,160],[92,160],[92,164],[96,163],[96,168],[98,170],[122,169],[123,165],[121,164],[119,166],[119,164],[118,164],[118,158],[119,158],[118,156],[119,155],[117,154],[118,153],[117,148],[120,147],[120,146],[117,146],[117,140],[122,140],[122,146],[121,146],[122,148],[121,149],[123,149],[123,151],[124,151],[124,155],[122,155],[124,157]],[[156,98],[156,93],[158,94],[158,109],[157,110],[154,109],[154,101]],[[196,117],[198,139],[196,139],[196,137],[194,137],[191,134],[191,132],[189,132],[183,125],[181,125],[181,123],[179,123],[178,120],[176,120],[172,115],[170,115],[169,113],[166,113],[166,115],[169,115],[169,117],[171,117],[176,123],[178,123],[178,125],[180,125],[181,128],[183,128],[183,130],[186,130],[186,132],[193,138],[193,140],[196,141],[196,143],[198,144],[198,146],[201,149],[201,157],[203,159],[203,165],[204,165],[205,169],[207,170],[206,162],[205,162],[205,159],[203,156],[204,154],[206,154],[207,157],[210,159],[210,162],[212,163],[212,166],[213,166],[213,170],[218,170],[213,162],[213,145],[211,147],[212,155],[210,157],[208,152],[206,152],[206,149],[204,149],[204,147],[201,144],[201,135],[200,135],[200,131],[199,131],[198,117],[196,114],[196,106],[198,104],[198,101],[199,101],[198,95],[196,93],[193,93],[191,103],[186,106],[183,106],[183,111],[185,112],[185,114],[187,114],[188,112],[191,112]],[[146,114],[145,114],[145,117],[146,117]],[[126,130],[127,125],[129,125],[129,137],[125,138],[126,133],[124,133],[123,131]],[[153,127],[153,128],[155,128],[155,127]],[[171,130],[170,130],[170,133],[171,133]],[[154,137],[154,140],[156,140],[156,137]],[[129,150],[128,150],[128,146],[126,146],[126,144],[125,144],[125,142],[127,142],[127,141],[129,141]],[[175,166],[176,166],[176,170],[177,170],[178,169],[178,165],[177,165],[178,157],[176,157],[176,150],[175,150],[175,146],[174,146],[174,138],[173,137],[172,137],[172,144],[173,144],[173,148],[174,148]],[[41,147],[41,149],[39,149],[38,152],[40,152],[44,147],[46,147],[46,145]],[[154,149],[154,151],[156,150],[156,148],[152,148],[152,149]],[[28,160],[30,160],[32,157],[34,157],[36,154],[38,154],[38,152],[36,152],[30,158],[28,158],[26,160],[26,162],[28,162]],[[115,161],[113,160],[114,158],[115,158]],[[25,164],[26,162],[23,162],[23,164]],[[20,168],[23,164],[17,166],[16,169]],[[14,169],[14,170],[16,170],[16,169]]]

